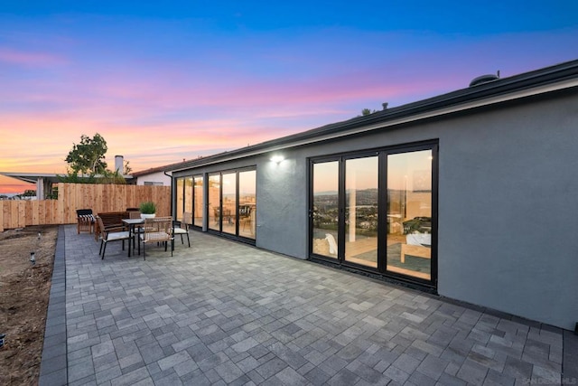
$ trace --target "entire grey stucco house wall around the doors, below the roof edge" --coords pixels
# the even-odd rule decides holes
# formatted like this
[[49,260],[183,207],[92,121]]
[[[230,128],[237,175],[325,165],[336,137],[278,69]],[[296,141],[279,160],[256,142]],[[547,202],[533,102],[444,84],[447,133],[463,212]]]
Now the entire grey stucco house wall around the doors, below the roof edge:
[[[566,329],[578,322],[578,92],[195,170],[256,165],[256,246],[308,257],[308,159],[439,140],[438,294]],[[191,174],[191,171],[177,175]]]

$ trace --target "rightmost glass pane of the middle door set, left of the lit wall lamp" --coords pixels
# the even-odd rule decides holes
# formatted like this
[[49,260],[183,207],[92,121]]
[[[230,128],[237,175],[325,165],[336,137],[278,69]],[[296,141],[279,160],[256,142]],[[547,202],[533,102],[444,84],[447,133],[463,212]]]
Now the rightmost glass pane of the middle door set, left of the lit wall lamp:
[[256,171],[238,174],[238,235],[255,239]]

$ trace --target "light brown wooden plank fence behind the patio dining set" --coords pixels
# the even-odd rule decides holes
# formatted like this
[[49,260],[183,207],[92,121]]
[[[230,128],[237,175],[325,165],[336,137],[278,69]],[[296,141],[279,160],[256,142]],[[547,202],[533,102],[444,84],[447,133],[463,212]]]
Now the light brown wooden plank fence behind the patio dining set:
[[156,203],[157,216],[171,215],[171,187],[116,184],[58,184],[58,200],[0,200],[0,231],[29,225],[76,223],[77,209],[122,212]]

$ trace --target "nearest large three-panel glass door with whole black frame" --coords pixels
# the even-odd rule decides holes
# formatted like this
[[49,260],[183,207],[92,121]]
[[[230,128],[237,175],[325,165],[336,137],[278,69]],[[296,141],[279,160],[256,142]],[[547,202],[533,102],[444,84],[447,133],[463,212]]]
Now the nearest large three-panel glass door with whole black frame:
[[435,285],[437,144],[312,159],[310,254]]

